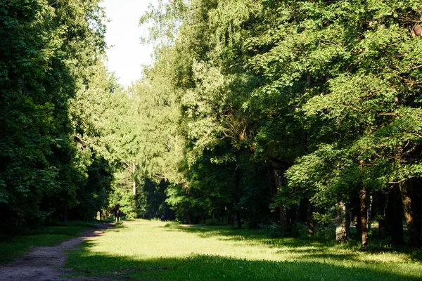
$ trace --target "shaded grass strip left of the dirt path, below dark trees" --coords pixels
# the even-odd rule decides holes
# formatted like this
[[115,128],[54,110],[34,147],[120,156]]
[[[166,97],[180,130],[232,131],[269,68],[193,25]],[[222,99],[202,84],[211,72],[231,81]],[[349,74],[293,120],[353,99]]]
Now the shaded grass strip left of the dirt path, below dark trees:
[[53,246],[79,237],[84,231],[95,228],[101,222],[54,223],[50,226],[25,228],[19,235],[1,235],[0,239],[0,264],[13,261],[23,256],[31,247]]

